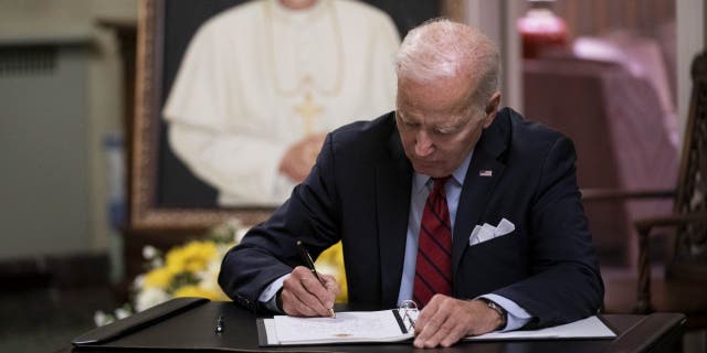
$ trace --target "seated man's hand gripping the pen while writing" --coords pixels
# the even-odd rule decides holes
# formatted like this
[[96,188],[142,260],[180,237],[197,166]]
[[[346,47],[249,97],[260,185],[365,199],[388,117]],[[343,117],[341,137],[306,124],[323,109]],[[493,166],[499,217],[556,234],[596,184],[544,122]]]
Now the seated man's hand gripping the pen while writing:
[[283,311],[293,317],[328,317],[334,299],[341,291],[329,275],[319,274],[321,282],[304,266],[297,266],[283,281]]

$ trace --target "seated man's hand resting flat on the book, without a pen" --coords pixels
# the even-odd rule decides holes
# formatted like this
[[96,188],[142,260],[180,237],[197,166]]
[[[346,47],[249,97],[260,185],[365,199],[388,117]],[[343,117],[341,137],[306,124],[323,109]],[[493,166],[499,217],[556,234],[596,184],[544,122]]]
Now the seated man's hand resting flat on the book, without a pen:
[[467,335],[494,331],[500,322],[498,312],[481,300],[435,295],[420,311],[413,345],[419,349],[450,346]]

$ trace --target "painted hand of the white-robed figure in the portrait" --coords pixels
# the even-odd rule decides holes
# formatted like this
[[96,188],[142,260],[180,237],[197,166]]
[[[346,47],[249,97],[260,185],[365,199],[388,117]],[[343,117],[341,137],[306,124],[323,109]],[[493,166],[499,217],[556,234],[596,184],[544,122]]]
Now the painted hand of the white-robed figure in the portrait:
[[295,182],[307,178],[324,145],[325,132],[313,133],[291,146],[279,161],[279,172]]

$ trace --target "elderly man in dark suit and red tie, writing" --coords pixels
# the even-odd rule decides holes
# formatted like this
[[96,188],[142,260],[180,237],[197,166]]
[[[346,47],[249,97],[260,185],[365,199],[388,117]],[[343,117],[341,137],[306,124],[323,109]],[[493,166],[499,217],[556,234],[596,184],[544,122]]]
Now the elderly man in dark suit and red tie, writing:
[[414,300],[418,347],[591,315],[603,284],[572,142],[499,109],[499,58],[447,20],[404,39],[397,110],[329,133],[307,179],[224,258],[236,302],[327,315],[339,286],[302,266],[339,239],[349,301]]

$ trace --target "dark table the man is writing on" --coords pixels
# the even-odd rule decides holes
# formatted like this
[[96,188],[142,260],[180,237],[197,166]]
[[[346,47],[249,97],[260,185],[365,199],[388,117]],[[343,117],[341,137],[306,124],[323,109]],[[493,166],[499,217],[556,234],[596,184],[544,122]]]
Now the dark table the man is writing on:
[[[337,310],[363,308],[338,307]],[[369,310],[369,308],[365,308]],[[151,309],[152,310],[152,309]],[[370,309],[372,310],[372,309]],[[158,310],[152,310],[156,312]],[[146,311],[147,315],[150,310]],[[145,313],[140,313],[145,315]],[[224,319],[224,332],[214,332],[217,318]],[[155,317],[155,315],[154,315]],[[313,346],[261,347],[257,345],[257,315],[232,302],[205,302],[160,317],[139,330],[102,344],[67,346],[57,352],[414,352],[410,342],[390,344],[339,344]],[[679,313],[652,315],[606,314],[604,322],[613,329],[614,340],[542,340],[460,342],[449,349],[424,352],[673,352],[679,346],[685,317]],[[155,319],[155,318],[152,318]]]

